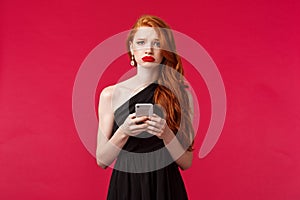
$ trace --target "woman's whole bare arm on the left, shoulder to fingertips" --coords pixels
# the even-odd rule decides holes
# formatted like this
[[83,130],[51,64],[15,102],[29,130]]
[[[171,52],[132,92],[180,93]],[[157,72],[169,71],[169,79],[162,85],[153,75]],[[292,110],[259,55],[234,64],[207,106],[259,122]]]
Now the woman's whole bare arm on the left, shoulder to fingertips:
[[135,136],[146,130],[146,124],[137,125],[147,117],[135,117],[130,114],[112,136],[114,111],[112,108],[113,87],[105,88],[100,94],[99,127],[97,137],[96,160],[103,169],[107,168],[119,155],[129,136]]

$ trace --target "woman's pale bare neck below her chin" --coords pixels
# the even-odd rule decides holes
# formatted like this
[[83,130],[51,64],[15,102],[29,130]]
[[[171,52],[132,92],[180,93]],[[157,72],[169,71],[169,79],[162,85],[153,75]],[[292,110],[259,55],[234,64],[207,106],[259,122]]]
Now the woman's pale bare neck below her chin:
[[157,81],[159,73],[159,66],[149,68],[137,66],[137,74],[135,77],[140,84],[150,84]]

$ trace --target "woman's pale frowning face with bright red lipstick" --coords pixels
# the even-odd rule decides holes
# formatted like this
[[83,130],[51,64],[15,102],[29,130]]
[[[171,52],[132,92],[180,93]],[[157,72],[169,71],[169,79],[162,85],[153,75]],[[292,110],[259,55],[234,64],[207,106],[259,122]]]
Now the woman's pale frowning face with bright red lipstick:
[[158,66],[163,59],[158,34],[152,27],[138,28],[130,43],[130,51],[137,65],[142,67]]

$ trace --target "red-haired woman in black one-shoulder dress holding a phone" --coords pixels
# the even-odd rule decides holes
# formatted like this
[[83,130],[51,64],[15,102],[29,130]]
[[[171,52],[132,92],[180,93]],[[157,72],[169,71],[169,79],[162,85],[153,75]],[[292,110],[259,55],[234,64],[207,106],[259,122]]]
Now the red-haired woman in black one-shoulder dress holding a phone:
[[[127,48],[135,76],[100,94],[97,163],[116,160],[109,200],[184,200],[179,168],[192,164],[191,96],[169,26],[142,16]],[[135,104],[152,103],[154,114],[137,117]]]

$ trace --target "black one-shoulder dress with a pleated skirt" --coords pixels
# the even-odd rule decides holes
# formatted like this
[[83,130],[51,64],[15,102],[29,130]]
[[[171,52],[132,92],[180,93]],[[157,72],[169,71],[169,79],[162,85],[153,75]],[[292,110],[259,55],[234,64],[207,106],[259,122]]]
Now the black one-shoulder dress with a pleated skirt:
[[[153,103],[156,83],[131,97],[114,113],[113,133],[136,103]],[[159,109],[154,112],[161,115]],[[186,200],[185,186],[177,164],[161,139],[143,132],[129,137],[112,172],[108,200]]]

